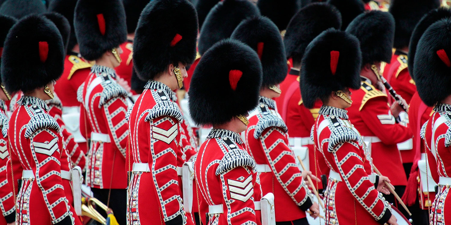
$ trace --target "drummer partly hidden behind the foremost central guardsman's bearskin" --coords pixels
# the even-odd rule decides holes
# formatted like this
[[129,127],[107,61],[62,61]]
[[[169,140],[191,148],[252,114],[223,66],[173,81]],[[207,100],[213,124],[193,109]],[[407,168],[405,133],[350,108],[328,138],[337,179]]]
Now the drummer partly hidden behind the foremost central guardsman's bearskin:
[[[276,24],[267,17],[244,20],[232,38],[253,48],[262,62],[263,79],[258,106],[249,115],[245,132],[246,149],[257,164],[263,195],[274,193],[276,222],[308,224],[305,211],[319,215],[318,203],[304,179],[309,171],[299,171],[288,143],[287,128],[276,111],[279,84],[287,73],[285,49]],[[316,177],[315,177],[316,178]],[[319,180],[318,180],[319,181]]]

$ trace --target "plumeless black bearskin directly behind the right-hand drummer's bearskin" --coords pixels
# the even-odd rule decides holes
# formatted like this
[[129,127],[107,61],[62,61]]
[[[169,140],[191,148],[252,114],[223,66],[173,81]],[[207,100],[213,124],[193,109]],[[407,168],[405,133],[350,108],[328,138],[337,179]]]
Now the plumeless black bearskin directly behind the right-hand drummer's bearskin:
[[286,29],[284,44],[287,58],[304,55],[305,48],[328,28],[341,28],[340,11],[325,3],[313,3],[299,10]]

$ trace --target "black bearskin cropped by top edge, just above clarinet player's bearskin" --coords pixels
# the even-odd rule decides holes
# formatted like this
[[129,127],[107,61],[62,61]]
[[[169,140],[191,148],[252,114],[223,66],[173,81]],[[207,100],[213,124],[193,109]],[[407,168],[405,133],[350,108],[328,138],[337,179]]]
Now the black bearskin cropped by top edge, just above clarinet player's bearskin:
[[341,13],[341,30],[345,30],[349,23],[359,14],[365,11],[362,0],[327,0],[327,3],[335,5]]

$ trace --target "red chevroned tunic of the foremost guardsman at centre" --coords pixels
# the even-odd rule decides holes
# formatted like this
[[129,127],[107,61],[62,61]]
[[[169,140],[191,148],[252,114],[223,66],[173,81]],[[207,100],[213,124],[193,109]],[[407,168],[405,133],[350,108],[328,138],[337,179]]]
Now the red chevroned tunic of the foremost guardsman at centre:
[[195,159],[194,174],[205,206],[200,214],[205,215],[208,206],[223,210],[211,214],[208,225],[262,224],[254,206],[262,198],[260,179],[239,134],[212,129]]

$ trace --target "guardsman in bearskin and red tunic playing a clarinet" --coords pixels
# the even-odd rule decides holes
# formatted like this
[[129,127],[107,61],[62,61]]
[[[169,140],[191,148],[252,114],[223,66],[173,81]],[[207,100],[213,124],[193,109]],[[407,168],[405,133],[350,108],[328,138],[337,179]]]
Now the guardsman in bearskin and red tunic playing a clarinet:
[[[407,178],[396,144],[408,141],[413,133],[406,124],[409,121],[407,113],[398,102],[388,106],[379,72],[381,62],[388,62],[391,58],[395,33],[393,16],[378,10],[360,14],[350,23],[346,32],[359,39],[362,52],[361,85],[351,91],[353,103],[348,109],[349,120],[359,130],[366,144],[371,144],[370,154],[374,166],[382,175],[388,176],[396,187],[396,193],[401,196]],[[397,204],[392,194],[385,198]]]

